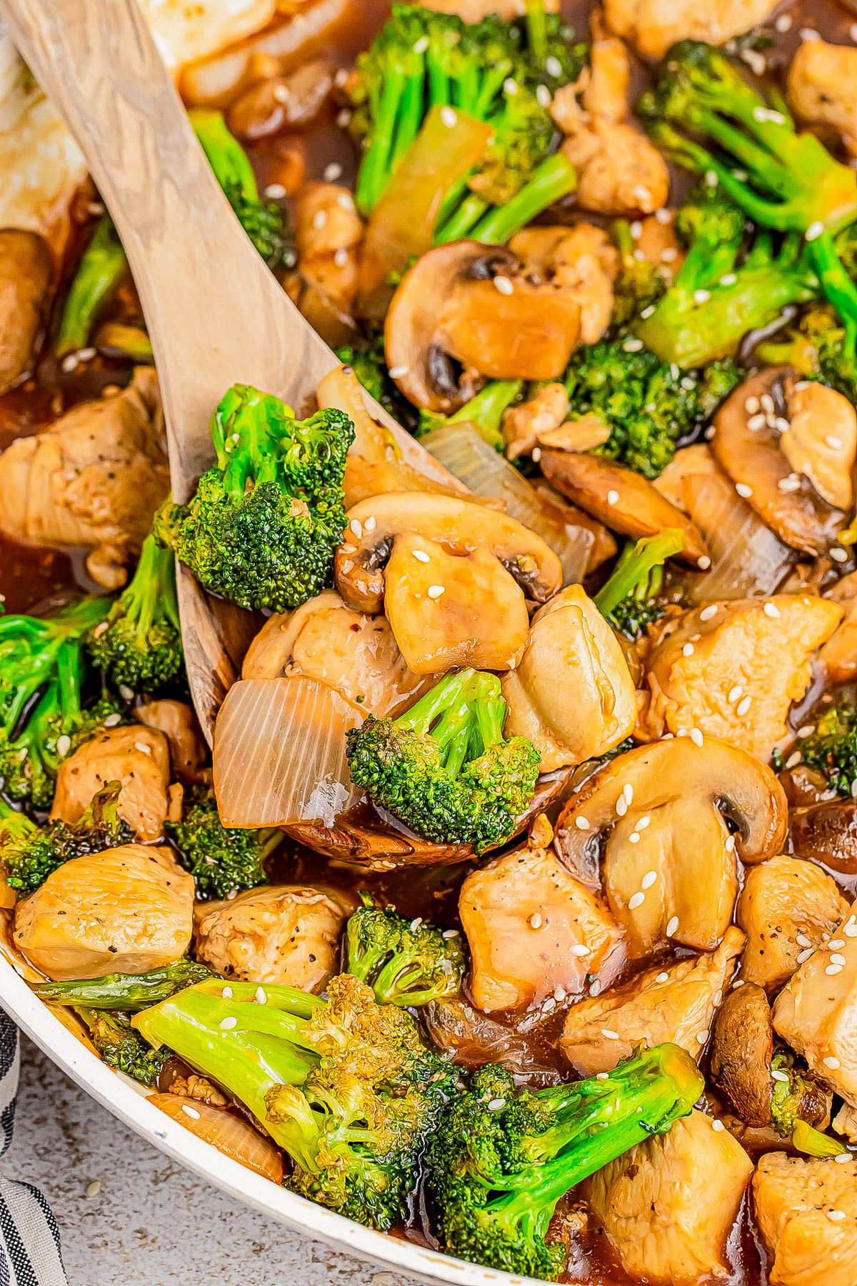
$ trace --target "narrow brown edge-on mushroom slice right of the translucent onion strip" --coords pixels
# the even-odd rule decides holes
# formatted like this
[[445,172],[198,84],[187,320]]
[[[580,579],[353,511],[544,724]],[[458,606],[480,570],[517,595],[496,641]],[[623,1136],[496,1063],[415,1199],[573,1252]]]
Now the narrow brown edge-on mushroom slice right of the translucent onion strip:
[[558,491],[612,531],[637,538],[654,536],[664,527],[681,527],[685,548],[676,557],[691,567],[708,557],[705,541],[690,518],[633,469],[603,455],[552,449],[542,450],[540,463]]

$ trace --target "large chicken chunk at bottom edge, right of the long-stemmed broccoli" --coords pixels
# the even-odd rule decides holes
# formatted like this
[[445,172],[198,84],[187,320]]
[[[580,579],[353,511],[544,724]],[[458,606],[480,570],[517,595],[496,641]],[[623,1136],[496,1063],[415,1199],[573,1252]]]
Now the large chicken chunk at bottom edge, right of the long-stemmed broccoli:
[[632,1277],[709,1281],[731,1277],[726,1242],[752,1173],[738,1139],[693,1111],[597,1170],[586,1197]]

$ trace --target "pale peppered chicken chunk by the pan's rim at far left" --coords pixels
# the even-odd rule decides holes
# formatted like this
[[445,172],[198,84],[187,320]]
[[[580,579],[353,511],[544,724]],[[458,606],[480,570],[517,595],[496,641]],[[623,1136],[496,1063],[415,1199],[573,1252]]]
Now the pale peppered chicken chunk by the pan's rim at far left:
[[168,849],[72,858],[18,903],[13,941],[48,977],[145,974],[190,945],[194,882]]

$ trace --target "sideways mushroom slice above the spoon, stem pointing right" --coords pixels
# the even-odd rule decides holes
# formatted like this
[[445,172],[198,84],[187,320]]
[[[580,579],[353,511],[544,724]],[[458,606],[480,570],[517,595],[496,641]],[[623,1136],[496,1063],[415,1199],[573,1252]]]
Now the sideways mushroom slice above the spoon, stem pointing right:
[[423,255],[398,285],[384,331],[387,365],[415,406],[450,414],[473,396],[474,373],[558,379],[579,333],[576,300],[528,282],[510,249],[452,242]]

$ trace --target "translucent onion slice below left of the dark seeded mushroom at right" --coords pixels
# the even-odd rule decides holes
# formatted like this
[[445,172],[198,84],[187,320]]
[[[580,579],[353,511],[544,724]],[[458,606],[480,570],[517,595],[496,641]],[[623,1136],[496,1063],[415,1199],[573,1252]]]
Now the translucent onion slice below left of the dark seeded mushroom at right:
[[702,603],[772,594],[788,575],[794,550],[766,527],[723,475],[694,473],[684,480],[682,493],[712,559],[704,576],[687,576],[689,598]]

